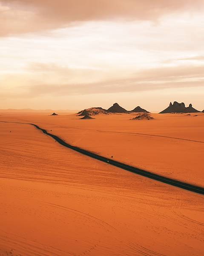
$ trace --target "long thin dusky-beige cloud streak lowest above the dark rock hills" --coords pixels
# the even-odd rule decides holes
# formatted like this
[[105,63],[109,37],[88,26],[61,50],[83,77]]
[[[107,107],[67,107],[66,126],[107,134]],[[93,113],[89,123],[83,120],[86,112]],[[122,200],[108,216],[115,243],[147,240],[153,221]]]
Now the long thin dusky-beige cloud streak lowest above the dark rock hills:
[[140,83],[131,82],[129,80],[112,81],[106,83],[92,83],[92,84],[68,84],[68,85],[48,85],[38,84],[30,86],[29,92],[21,97],[39,97],[42,95],[49,96],[72,96],[72,95],[86,95],[86,94],[117,94],[124,92],[143,92],[143,91],[155,91],[161,89],[171,88],[188,88],[188,87],[204,87],[204,80],[202,81],[164,81],[160,83]]

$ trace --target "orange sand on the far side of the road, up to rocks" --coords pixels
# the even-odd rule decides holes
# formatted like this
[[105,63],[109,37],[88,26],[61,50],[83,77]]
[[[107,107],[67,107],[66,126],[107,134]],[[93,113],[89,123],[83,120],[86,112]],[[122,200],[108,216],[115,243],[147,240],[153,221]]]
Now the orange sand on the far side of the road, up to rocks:
[[[154,120],[129,120],[135,114],[9,115],[0,120],[32,122],[65,141],[102,156],[204,186],[204,114],[152,114]],[[152,136],[156,135],[156,136]]]

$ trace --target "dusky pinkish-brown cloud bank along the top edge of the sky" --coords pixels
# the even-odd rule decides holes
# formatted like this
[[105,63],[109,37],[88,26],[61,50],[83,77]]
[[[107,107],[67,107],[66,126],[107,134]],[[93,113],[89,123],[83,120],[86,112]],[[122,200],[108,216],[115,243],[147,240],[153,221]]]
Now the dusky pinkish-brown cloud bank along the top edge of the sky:
[[155,20],[203,7],[203,0],[0,0],[0,35],[56,29],[83,21]]

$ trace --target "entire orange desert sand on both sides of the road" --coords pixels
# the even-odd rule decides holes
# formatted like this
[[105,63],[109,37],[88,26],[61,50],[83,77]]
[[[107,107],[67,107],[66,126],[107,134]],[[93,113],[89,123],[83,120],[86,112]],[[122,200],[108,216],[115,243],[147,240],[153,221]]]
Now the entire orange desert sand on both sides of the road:
[[[204,114],[1,114],[70,144],[204,186]],[[52,131],[51,131],[52,130]],[[28,124],[0,123],[0,255],[204,254],[204,197],[69,150]]]

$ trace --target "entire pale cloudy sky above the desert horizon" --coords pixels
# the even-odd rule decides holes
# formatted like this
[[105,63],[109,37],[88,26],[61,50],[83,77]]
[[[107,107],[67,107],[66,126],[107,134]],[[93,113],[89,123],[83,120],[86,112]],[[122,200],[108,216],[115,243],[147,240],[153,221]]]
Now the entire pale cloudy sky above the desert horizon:
[[204,0],[0,0],[0,109],[204,109]]

